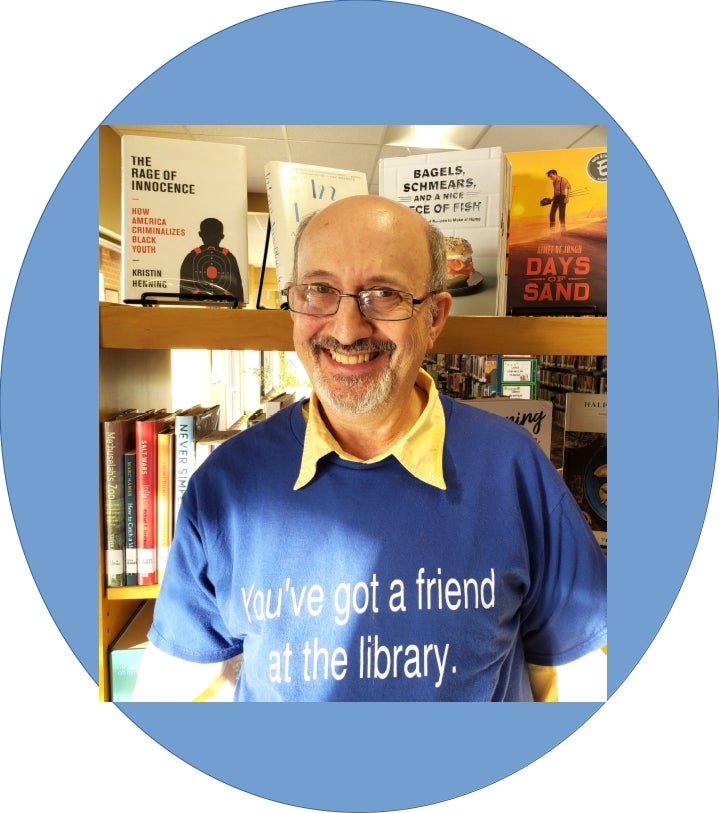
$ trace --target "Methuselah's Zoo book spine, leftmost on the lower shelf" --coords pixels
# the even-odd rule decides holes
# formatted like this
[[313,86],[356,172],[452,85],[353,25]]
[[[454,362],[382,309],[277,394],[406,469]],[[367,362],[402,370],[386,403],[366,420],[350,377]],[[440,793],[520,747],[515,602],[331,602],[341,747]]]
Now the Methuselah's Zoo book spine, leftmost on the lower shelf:
[[105,549],[105,584],[125,584],[125,473],[124,454],[134,448],[134,409],[125,409],[101,421],[102,510]]

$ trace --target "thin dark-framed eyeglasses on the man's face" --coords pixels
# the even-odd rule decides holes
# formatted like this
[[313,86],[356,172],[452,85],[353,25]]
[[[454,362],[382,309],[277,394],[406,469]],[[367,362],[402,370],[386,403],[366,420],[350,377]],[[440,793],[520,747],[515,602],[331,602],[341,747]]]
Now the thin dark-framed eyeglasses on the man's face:
[[282,291],[287,297],[287,305],[293,313],[304,316],[334,316],[340,307],[342,297],[354,299],[365,319],[384,322],[400,322],[411,319],[414,306],[421,305],[438,291],[430,291],[421,299],[415,299],[407,291],[394,288],[371,288],[358,294],[343,294],[330,285],[289,285]]

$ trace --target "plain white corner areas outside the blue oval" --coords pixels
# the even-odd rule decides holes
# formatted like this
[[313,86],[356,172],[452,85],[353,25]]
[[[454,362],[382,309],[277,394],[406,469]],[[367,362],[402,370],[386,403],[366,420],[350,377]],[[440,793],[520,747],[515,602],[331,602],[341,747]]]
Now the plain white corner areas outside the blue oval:
[[[236,2],[212,0],[200,6],[187,0],[125,0],[112,7],[68,0],[3,7],[3,325],[43,209],[110,109],[200,39],[292,5],[303,4],[256,0],[251,11]],[[564,70],[607,110],[672,203],[702,273],[716,325],[719,290],[711,265],[716,225],[710,223],[715,189],[709,174],[716,147],[702,142],[705,133],[714,132],[710,114],[717,76],[708,9],[695,0],[678,8],[626,2],[553,8],[525,0],[412,5],[452,12],[516,39]],[[459,69],[461,55],[458,59]],[[292,809],[201,774],[150,740],[112,704],[97,702],[94,683],[63,641],[34,585],[4,482],[0,485],[6,804],[22,798],[25,805],[39,807],[64,797],[77,810],[97,807],[106,813],[127,813],[133,802],[143,811],[168,802],[178,810],[200,803],[205,808]],[[717,724],[710,625],[719,556],[710,537],[717,537],[718,511],[714,493],[675,607],[610,703],[533,765],[428,810],[459,813],[532,799],[538,809],[556,813],[577,806],[589,813],[613,805],[704,807],[716,771],[702,731],[711,737]],[[122,780],[108,788],[111,763],[120,760],[125,761]],[[131,764],[134,775],[127,770]]]

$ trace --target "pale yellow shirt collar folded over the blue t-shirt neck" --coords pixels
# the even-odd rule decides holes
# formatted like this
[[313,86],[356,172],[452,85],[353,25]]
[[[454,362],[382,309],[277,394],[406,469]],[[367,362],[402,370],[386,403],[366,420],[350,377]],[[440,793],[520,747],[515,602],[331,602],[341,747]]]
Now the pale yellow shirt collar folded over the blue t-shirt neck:
[[439,400],[439,393],[432,377],[420,369],[417,375],[417,386],[427,394],[427,404],[414,426],[404,437],[381,455],[371,460],[360,460],[347,454],[337,443],[332,433],[322,420],[317,396],[313,392],[309,402],[303,408],[307,421],[305,443],[302,451],[299,476],[295,482],[295,491],[306,486],[317,473],[319,461],[332,452],[343,460],[360,463],[376,463],[394,455],[407,471],[419,480],[436,488],[446,489],[442,469],[442,451],[444,448],[444,410]]

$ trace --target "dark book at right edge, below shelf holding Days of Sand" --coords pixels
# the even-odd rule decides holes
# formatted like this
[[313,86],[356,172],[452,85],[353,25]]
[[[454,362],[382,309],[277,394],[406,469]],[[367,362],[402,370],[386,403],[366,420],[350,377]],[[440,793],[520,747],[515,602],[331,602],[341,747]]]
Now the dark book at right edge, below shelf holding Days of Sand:
[[562,476],[607,550],[607,396],[567,393]]

